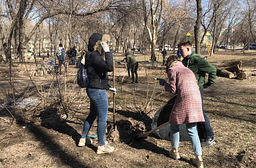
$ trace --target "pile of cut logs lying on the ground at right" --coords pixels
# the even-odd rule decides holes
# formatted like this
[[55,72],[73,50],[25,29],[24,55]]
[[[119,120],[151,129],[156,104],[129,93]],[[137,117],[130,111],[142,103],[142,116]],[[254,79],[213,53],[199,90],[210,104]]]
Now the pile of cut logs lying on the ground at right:
[[242,69],[242,65],[242,61],[232,62],[228,67],[217,69],[217,75],[228,78],[237,77],[237,79],[241,80],[246,79],[251,75],[256,75],[256,70]]

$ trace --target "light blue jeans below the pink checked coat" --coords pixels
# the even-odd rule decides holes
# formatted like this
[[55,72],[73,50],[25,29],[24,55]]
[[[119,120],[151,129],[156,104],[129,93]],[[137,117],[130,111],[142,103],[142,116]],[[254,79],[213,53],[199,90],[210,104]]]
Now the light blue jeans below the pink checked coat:
[[[172,140],[172,147],[179,148],[180,134],[179,134],[179,126],[176,124],[170,124],[170,138]],[[197,134],[197,123],[187,123],[186,124],[187,133],[189,134],[190,142],[193,146],[193,151],[195,155],[201,156],[201,143],[199,140],[199,136]]]

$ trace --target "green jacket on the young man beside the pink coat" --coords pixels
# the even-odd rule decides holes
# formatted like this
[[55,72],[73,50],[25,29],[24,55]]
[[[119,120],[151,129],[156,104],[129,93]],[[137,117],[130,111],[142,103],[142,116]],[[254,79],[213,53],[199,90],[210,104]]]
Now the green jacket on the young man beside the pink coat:
[[195,74],[200,91],[203,89],[205,73],[209,74],[207,85],[212,85],[215,83],[216,68],[204,58],[201,58],[199,54],[193,53],[189,58],[184,58],[182,62],[185,67],[191,69],[191,71],[193,71]]

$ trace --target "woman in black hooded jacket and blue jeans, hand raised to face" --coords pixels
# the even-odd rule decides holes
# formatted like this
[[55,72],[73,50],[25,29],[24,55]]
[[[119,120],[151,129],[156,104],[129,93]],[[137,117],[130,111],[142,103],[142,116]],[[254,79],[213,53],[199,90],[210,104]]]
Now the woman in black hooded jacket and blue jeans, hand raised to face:
[[115,150],[113,146],[105,143],[106,119],[108,116],[108,96],[106,90],[108,85],[108,72],[113,71],[113,54],[110,52],[106,37],[109,35],[92,34],[89,39],[88,52],[86,53],[85,68],[89,77],[90,84],[86,87],[86,93],[90,98],[90,114],[84,122],[82,138],[78,146],[90,144],[87,138],[88,132],[94,120],[98,116],[98,149],[97,154],[111,153]]

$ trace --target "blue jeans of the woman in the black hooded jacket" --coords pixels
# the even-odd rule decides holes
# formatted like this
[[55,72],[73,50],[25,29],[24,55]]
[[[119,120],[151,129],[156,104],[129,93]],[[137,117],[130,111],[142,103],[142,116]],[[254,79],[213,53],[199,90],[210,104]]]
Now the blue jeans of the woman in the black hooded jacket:
[[108,117],[108,96],[105,89],[86,89],[87,95],[90,98],[90,114],[84,122],[84,130],[82,138],[86,138],[90,128],[96,117],[98,116],[98,145],[105,144],[106,135],[106,119]]

